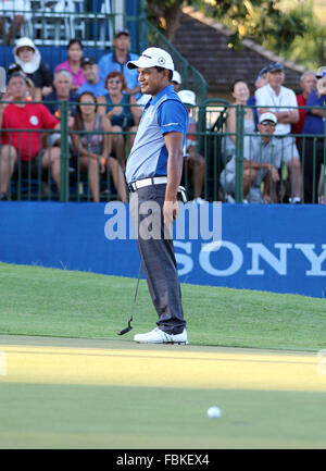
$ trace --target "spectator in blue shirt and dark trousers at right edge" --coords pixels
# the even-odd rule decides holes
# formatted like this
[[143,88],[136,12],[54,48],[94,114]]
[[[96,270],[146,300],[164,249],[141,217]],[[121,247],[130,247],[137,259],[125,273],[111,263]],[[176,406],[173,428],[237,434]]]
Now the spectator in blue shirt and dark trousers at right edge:
[[316,203],[318,198],[318,182],[321,169],[324,163],[324,116],[326,104],[326,71],[317,72],[317,87],[308,97],[308,107],[321,107],[319,109],[309,108],[302,128],[302,134],[310,134],[316,137],[304,137],[302,142],[302,169],[304,175],[303,195],[304,202]]

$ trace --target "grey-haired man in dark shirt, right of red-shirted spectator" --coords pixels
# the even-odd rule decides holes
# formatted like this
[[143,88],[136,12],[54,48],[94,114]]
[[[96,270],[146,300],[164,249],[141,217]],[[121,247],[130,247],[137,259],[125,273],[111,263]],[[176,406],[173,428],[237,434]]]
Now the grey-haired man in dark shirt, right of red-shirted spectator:
[[[72,89],[72,75],[70,71],[60,70],[54,73],[53,79],[53,91],[47,95],[43,99],[45,106],[49,111],[61,120],[60,108],[61,101],[70,101],[70,114],[68,114],[68,126],[72,127],[74,124],[74,116],[76,114],[76,106],[78,95]],[[52,134],[48,138],[49,146],[60,146],[60,134]]]

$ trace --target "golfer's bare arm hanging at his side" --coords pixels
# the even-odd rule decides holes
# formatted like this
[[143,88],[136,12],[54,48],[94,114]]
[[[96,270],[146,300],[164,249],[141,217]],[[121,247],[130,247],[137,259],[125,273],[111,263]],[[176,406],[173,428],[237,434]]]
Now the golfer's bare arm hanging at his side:
[[177,189],[180,184],[184,164],[183,133],[164,134],[167,149],[167,184],[165,201],[176,201]]

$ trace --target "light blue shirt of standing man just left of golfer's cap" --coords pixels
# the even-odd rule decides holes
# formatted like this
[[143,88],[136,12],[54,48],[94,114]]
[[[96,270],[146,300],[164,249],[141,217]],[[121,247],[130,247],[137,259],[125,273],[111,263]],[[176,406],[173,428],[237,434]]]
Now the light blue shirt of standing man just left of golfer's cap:
[[[100,79],[105,82],[105,78],[108,77],[110,72],[117,71],[124,74],[128,88],[131,89],[139,86],[137,69],[130,70],[127,67],[128,61],[137,61],[138,59],[139,55],[129,52],[125,62],[121,64],[116,59],[114,51],[103,55],[99,61]],[[140,92],[136,94],[135,98],[137,99],[140,96]]]

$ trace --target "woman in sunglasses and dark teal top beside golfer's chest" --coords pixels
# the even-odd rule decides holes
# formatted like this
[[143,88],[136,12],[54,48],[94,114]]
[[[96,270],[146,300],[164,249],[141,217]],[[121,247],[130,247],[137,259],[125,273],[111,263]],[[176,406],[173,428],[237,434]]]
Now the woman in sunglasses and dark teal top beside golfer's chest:
[[126,141],[131,148],[142,110],[137,107],[136,99],[133,95],[124,94],[126,80],[122,72],[111,72],[105,80],[108,94],[98,98],[100,113],[105,113],[112,123],[112,131],[118,133],[112,139],[112,150],[123,169],[125,169],[125,139],[122,132],[134,133],[126,135]]

